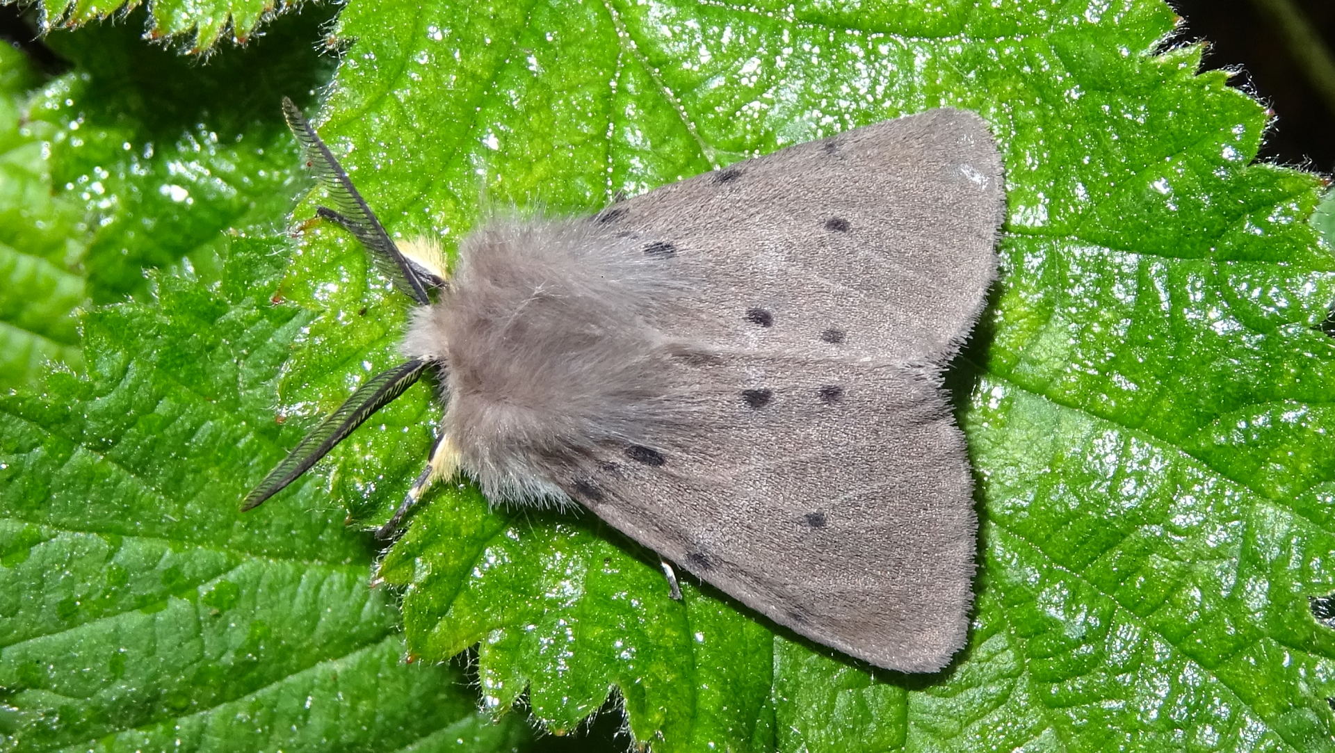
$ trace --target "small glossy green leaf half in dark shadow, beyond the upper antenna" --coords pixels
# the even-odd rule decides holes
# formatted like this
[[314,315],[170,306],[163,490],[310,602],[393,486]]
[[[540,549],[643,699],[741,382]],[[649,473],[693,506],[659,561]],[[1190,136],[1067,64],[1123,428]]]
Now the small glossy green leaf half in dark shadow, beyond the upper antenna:
[[222,231],[278,230],[299,151],[275,103],[306,101],[327,77],[334,59],[311,44],[327,19],[284,17],[207,65],[144,44],[132,23],[47,37],[75,69],[44,87],[29,117],[57,190],[92,228],[96,303],[142,295],[144,267],[216,279]]

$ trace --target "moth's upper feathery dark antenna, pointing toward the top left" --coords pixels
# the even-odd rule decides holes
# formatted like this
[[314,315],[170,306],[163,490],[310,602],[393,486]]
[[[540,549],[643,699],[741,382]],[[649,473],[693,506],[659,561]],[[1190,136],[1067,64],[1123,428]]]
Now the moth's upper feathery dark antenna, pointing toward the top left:
[[302,111],[286,96],[283,97],[283,115],[287,117],[287,127],[292,130],[292,135],[306,150],[306,166],[324,184],[336,207],[335,210],[318,207],[315,212],[347,228],[362,242],[362,246],[366,246],[380,272],[394,280],[394,287],[411,295],[413,300],[421,306],[429,306],[431,300],[427,298],[427,288],[443,286],[445,280],[414,264],[399,251],[390,235],[384,232],[380,220],[375,218],[375,212],[352,187],[352,180],[334,159],[334,154],[306,121]]

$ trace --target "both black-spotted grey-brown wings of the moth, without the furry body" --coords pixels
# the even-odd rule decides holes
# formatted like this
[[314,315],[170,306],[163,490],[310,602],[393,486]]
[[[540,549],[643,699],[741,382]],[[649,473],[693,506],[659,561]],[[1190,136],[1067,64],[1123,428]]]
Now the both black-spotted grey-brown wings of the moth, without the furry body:
[[789,147],[594,218],[686,280],[655,324],[690,421],[567,491],[780,625],[877,666],[965,641],[976,517],[941,364],[1004,218],[987,123],[937,109]]

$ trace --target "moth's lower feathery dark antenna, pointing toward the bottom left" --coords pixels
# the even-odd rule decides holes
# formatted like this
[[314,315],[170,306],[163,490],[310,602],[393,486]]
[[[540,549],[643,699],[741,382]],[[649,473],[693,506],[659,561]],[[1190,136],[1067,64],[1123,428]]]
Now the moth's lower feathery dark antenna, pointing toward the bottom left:
[[388,405],[411,387],[426,371],[430,362],[413,359],[367,379],[352,395],[303,438],[283,462],[246,495],[242,510],[252,510],[288,483],[296,481],[320,458],[328,454],[371,414]]

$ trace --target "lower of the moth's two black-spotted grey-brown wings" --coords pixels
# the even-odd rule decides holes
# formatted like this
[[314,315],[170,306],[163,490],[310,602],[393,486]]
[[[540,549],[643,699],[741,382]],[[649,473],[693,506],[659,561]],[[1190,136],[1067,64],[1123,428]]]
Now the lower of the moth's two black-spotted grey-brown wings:
[[[697,429],[606,445],[566,491],[820,644],[901,672],[945,666],[965,642],[977,521],[934,381],[784,356],[709,371]],[[738,391],[757,381],[773,385],[760,407]]]

